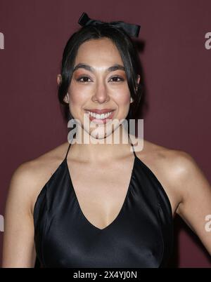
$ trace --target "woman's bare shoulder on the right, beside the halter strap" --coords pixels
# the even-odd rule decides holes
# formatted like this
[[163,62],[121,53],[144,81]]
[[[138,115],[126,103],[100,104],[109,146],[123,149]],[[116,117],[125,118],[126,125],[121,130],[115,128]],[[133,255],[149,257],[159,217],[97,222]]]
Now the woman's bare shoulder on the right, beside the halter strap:
[[143,150],[137,156],[158,178],[170,199],[173,214],[183,201],[187,177],[199,169],[187,152],[144,140]]

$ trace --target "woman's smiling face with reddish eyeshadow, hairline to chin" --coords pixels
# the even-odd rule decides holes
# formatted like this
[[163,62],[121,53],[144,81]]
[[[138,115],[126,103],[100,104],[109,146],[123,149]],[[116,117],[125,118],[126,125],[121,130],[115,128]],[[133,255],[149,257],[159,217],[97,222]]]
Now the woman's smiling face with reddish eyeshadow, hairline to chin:
[[[67,94],[70,113],[79,120],[82,130],[104,138],[120,126],[132,102],[120,53],[110,39],[91,39],[79,47],[74,67]],[[92,121],[97,130],[87,126],[84,114],[89,126]],[[110,130],[108,125],[114,119],[118,123]]]

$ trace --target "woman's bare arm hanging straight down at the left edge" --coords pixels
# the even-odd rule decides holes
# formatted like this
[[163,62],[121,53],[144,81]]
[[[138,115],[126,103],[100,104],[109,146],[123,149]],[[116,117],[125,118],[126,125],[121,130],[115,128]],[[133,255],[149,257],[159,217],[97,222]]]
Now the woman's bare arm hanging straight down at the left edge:
[[23,163],[13,173],[8,191],[2,267],[34,267],[32,184],[30,166]]

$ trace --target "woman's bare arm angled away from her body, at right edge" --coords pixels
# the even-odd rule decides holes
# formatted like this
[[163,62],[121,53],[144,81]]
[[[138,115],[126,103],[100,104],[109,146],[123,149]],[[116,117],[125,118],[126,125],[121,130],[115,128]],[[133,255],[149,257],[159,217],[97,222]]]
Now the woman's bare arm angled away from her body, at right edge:
[[[211,187],[196,161],[186,152],[179,152],[177,187],[181,203],[177,208],[179,216],[198,235],[211,255]],[[210,216],[209,216],[210,215]],[[208,221],[210,218],[210,222]]]

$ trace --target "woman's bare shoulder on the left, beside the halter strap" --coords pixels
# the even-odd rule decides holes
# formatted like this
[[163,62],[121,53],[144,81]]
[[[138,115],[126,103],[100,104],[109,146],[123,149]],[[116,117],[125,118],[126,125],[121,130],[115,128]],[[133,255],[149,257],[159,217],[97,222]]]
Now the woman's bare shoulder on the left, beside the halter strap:
[[67,149],[68,142],[65,142],[36,159],[21,163],[13,172],[9,195],[27,203],[31,214],[39,192],[65,158]]

